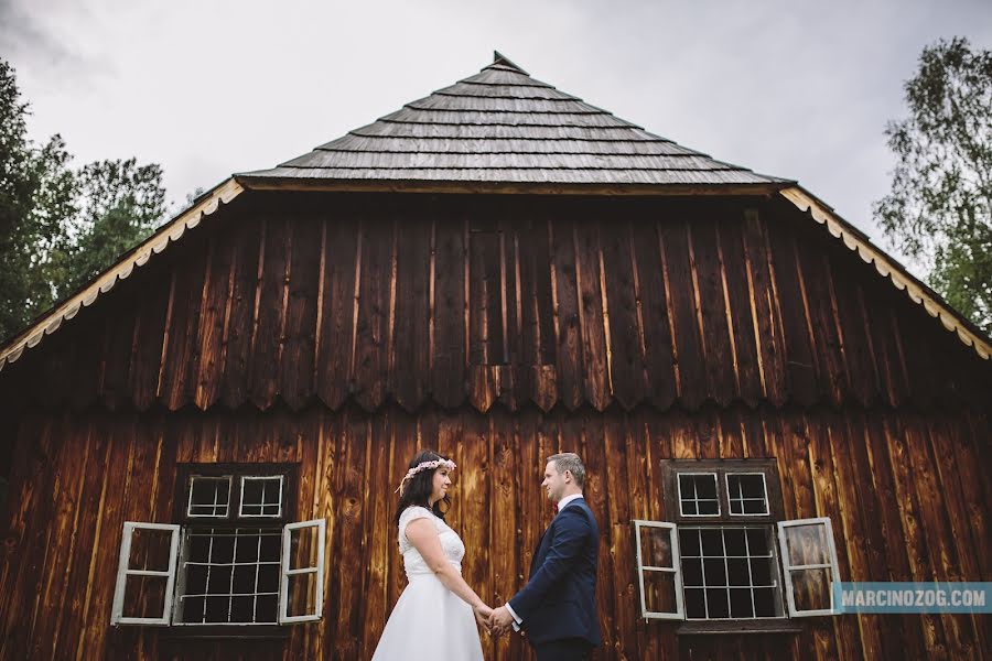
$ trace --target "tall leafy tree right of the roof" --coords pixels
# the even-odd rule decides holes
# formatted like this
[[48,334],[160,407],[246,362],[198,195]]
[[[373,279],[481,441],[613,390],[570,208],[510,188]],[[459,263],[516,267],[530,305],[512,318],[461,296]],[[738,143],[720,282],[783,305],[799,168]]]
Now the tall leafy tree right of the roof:
[[896,155],[875,217],[893,246],[985,333],[992,330],[992,52],[955,37],[924,48],[905,83],[909,117],[885,133]]

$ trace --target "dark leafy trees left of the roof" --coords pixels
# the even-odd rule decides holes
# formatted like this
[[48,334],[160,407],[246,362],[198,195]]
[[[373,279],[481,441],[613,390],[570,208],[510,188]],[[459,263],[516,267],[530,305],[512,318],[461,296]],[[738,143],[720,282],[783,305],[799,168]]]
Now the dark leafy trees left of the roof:
[[60,136],[29,139],[28,110],[0,59],[0,339],[112,264],[165,213],[161,167],[128,159],[73,170]]

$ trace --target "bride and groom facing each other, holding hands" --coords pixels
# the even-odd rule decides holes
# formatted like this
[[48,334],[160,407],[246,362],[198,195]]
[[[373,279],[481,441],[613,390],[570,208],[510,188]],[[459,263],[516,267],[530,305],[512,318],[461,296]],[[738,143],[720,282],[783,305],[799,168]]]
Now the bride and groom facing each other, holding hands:
[[[444,522],[455,464],[424,451],[400,483],[396,522],[409,584],[373,661],[483,659],[476,622],[492,633],[526,633],[538,661],[587,659],[600,644],[596,559],[600,531],[582,498],[585,467],[573,453],[548,458],[541,487],[558,513],[541,537],[530,579],[493,609],[462,578],[465,545]],[[446,508],[445,508],[446,509]]]

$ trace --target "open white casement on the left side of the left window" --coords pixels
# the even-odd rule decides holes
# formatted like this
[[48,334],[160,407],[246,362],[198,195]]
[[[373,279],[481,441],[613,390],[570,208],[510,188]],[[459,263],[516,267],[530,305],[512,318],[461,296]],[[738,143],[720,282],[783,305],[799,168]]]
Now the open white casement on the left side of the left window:
[[[169,560],[165,566],[159,568],[132,567],[131,551],[133,549],[136,531],[158,531],[169,533],[168,541],[165,539],[154,540],[149,535],[149,541],[143,551],[162,552],[169,551]],[[164,535],[160,535],[164,537]],[[119,625],[160,625],[168,626],[172,614],[173,588],[175,586],[175,567],[176,557],[179,555],[180,527],[172,523],[141,523],[136,521],[125,521],[123,533],[120,539],[120,560],[117,565],[117,586],[114,589],[114,605],[110,610],[110,624]],[[166,545],[168,544],[168,545]],[[145,556],[147,560],[147,556]],[[125,614],[128,604],[125,603],[128,592],[128,581],[141,581],[141,578],[132,577],[151,577],[159,578],[154,583],[162,583],[158,588],[162,592],[162,611],[158,615],[149,614]]]

